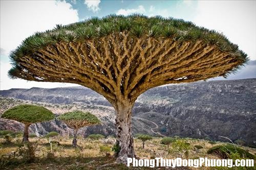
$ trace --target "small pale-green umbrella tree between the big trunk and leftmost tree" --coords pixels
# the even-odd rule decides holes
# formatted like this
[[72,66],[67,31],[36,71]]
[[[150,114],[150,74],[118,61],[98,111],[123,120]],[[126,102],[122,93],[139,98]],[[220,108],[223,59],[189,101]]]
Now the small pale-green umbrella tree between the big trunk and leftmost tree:
[[100,120],[95,115],[82,111],[67,112],[57,118],[66,123],[68,127],[74,129],[73,147],[77,147],[77,132],[80,128],[100,123]]

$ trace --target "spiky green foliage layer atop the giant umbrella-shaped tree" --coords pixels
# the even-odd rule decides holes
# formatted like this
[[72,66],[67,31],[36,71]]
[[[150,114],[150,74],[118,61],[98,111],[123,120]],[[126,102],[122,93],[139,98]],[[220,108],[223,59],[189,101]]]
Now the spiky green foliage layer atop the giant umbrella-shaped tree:
[[59,42],[80,42],[125,31],[129,31],[137,38],[144,36],[166,37],[180,42],[203,40],[209,45],[216,45],[220,51],[231,53],[238,60],[238,65],[227,74],[237,70],[248,60],[247,55],[239,50],[238,45],[231,43],[223,34],[198,27],[190,21],[172,17],[147,17],[140,14],[109,15],[103,18],[92,17],[67,26],[57,25],[53,30],[37,32],[26,38],[10,55],[14,67],[9,70],[9,76],[15,78],[21,69],[18,64],[19,57],[33,56],[35,51],[47,48],[49,45]]

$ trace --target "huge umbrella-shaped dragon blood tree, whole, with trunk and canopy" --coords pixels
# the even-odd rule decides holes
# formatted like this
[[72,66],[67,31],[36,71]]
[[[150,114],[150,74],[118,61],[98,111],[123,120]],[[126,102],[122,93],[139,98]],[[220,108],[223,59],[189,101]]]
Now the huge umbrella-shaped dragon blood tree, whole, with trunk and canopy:
[[10,55],[11,78],[76,83],[116,110],[117,161],[134,157],[131,117],[146,90],[169,83],[226,77],[247,55],[222,34],[181,19],[110,15],[25,39]]

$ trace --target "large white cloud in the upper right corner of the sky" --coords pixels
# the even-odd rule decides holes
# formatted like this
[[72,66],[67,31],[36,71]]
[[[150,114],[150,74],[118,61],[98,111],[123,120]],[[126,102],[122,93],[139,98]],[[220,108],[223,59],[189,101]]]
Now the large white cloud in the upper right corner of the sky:
[[256,2],[199,1],[196,25],[223,32],[250,59],[256,59]]

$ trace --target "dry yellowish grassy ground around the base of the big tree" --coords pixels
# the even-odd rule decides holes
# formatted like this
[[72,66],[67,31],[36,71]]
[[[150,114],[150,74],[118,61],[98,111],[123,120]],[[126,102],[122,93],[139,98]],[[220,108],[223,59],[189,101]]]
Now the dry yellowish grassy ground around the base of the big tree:
[[[127,168],[122,164],[115,163],[113,158],[113,151],[111,151],[112,144],[115,139],[112,137],[102,139],[89,139],[79,137],[78,148],[73,148],[72,138],[57,136],[52,138],[30,138],[31,143],[36,143],[35,159],[32,162],[22,160],[19,151],[23,151],[22,138],[12,138],[11,142],[6,143],[4,138],[0,139],[0,158],[1,169],[166,169],[163,167],[146,168],[139,167]],[[52,152],[49,140],[52,142]],[[141,140],[135,138],[135,153],[140,159],[154,159],[162,157],[165,159],[174,159],[181,157],[184,159],[197,159],[199,157],[207,157],[212,159],[219,159],[216,155],[207,154],[207,150],[224,142],[210,143],[209,140],[192,139],[192,138],[177,138],[176,140],[189,143],[187,150],[180,152],[172,152],[173,145],[169,148],[161,144],[161,138],[154,137],[152,140],[145,142],[145,148],[142,149]],[[197,149],[195,146],[200,145],[202,148]],[[101,147],[104,147],[102,149]],[[236,145],[238,147],[238,145]],[[241,146],[240,146],[241,147]],[[241,147],[251,154],[256,153],[256,149],[249,147]],[[19,150],[20,149],[20,150]],[[53,153],[53,154],[51,154]],[[6,159],[5,159],[6,158]],[[248,168],[253,169],[254,167]],[[198,169],[195,167],[178,167],[170,169]],[[200,167],[200,169],[216,169],[214,167]],[[221,168],[218,168],[221,169]],[[224,169],[224,168],[222,168]]]

